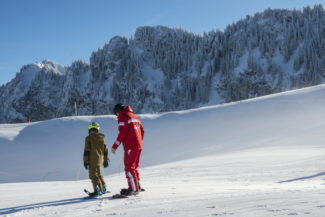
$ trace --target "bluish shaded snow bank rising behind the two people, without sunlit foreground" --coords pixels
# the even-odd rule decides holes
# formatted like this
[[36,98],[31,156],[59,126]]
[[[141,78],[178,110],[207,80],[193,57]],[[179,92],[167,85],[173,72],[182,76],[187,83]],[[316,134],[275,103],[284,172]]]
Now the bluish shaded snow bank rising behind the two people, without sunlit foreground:
[[[141,115],[145,128],[141,167],[261,147],[323,147],[325,86],[183,112]],[[110,147],[113,116],[84,116],[0,125],[0,182],[76,180],[90,121],[101,124]],[[123,170],[122,149],[105,171]]]

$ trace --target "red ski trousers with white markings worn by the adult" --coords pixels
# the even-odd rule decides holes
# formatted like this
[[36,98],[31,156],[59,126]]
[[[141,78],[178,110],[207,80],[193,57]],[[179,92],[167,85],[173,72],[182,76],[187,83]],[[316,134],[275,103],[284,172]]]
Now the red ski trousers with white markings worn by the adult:
[[140,161],[141,150],[130,149],[124,151],[124,170],[128,181],[129,189],[133,191],[139,190],[140,175],[138,166]]

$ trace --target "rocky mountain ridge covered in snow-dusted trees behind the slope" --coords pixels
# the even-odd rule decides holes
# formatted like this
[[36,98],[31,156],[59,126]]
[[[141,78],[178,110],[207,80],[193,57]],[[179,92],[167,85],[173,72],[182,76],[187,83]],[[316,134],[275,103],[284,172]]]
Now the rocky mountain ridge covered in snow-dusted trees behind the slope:
[[203,35],[139,27],[94,51],[89,64],[24,66],[0,87],[0,122],[196,108],[324,83],[325,12],[267,9]]

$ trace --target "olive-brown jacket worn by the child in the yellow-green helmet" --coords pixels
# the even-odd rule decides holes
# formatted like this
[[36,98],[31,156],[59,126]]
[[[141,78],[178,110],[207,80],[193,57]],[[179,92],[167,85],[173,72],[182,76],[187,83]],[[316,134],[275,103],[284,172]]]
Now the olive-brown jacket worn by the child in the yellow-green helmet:
[[83,160],[89,166],[101,166],[104,160],[108,160],[108,150],[105,143],[105,135],[102,133],[90,133],[85,139]]

